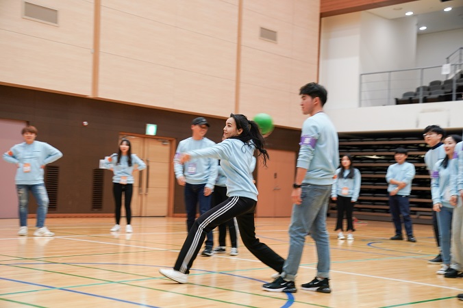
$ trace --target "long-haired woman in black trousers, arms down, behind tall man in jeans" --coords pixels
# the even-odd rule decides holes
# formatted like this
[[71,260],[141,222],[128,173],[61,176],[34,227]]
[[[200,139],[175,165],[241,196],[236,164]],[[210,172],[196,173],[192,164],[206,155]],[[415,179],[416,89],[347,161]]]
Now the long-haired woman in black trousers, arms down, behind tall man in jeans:
[[344,231],[342,227],[342,220],[344,220],[344,213],[347,217],[347,240],[353,240],[352,232],[352,211],[353,205],[358,199],[360,194],[360,183],[362,177],[360,171],[353,168],[352,157],[349,154],[343,155],[341,158],[341,168],[338,168],[335,173],[333,186],[331,187],[331,199],[336,201],[338,208],[338,221],[336,222],[336,229],[338,232],[338,240],[345,240]]

